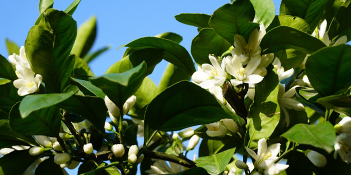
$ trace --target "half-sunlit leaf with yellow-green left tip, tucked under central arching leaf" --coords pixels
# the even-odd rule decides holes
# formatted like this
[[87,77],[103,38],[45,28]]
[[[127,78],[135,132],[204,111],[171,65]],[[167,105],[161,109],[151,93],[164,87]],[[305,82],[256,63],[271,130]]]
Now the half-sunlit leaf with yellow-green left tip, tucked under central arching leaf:
[[133,67],[139,65],[142,61],[145,61],[146,75],[152,73],[155,66],[162,60],[164,51],[157,48],[144,48],[135,50],[123,57],[118,62],[112,64],[106,71],[106,73],[122,73]]

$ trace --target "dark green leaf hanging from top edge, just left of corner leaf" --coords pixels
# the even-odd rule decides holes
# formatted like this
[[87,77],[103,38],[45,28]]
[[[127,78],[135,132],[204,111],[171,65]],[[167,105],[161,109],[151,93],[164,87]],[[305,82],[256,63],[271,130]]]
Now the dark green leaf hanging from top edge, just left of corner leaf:
[[298,16],[306,20],[311,29],[314,29],[323,14],[328,0],[282,0],[280,14]]

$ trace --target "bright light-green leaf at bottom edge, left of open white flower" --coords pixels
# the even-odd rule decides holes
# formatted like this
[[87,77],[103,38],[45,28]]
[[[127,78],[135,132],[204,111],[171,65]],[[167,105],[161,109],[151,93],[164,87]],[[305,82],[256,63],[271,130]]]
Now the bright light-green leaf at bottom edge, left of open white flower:
[[234,151],[235,148],[232,148],[211,156],[199,157],[195,162],[198,167],[203,167],[209,174],[220,174],[226,169]]

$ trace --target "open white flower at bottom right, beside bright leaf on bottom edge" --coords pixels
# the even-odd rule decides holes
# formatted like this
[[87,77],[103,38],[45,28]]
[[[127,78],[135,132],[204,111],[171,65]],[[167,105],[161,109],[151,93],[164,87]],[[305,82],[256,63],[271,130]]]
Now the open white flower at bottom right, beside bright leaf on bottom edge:
[[[261,138],[260,140],[258,140],[257,154],[246,146],[245,146],[245,149],[250,154],[250,156],[256,160],[255,167],[258,169],[259,168],[268,169],[273,166],[279,170],[284,170],[289,166],[286,164],[274,163],[275,160],[278,159],[277,154],[279,153],[279,150],[280,150],[280,143],[271,144],[267,148],[266,138]],[[268,170],[268,171],[271,171],[271,170]]]

